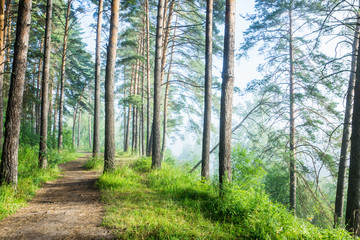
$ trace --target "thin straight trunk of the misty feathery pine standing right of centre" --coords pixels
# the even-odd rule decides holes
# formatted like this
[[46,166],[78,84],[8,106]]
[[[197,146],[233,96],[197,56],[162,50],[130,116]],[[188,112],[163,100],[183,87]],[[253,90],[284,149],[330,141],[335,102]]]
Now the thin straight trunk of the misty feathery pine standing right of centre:
[[290,209],[296,215],[296,146],[295,146],[295,116],[294,116],[294,46],[292,3],[289,9],[289,60],[290,60]]

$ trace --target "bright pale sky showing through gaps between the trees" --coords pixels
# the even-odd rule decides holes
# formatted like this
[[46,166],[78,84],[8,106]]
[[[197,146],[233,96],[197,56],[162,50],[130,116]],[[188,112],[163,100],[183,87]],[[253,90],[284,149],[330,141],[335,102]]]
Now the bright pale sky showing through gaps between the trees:
[[[248,28],[249,23],[246,22],[241,16],[246,14],[251,14],[254,12],[254,0],[237,0],[236,3],[236,49],[239,49],[241,42],[243,41],[243,32]],[[95,24],[95,20],[93,19],[93,14],[97,10],[97,6],[92,5],[91,9],[89,9],[85,16],[81,19],[81,25],[84,29],[83,41],[87,44],[87,50],[95,55],[95,29],[91,28],[92,24]],[[121,25],[120,25],[121,28]],[[220,27],[221,29],[221,27]],[[102,43],[104,44],[104,43]],[[259,63],[263,61],[263,58],[257,54],[256,51],[251,52],[251,58],[248,59],[236,59],[235,61],[235,86],[240,89],[244,89],[248,82],[251,80],[258,78],[260,74],[257,72],[257,67]],[[222,70],[222,58],[213,59],[213,75],[217,77],[221,77]],[[234,97],[234,106],[244,105],[244,101],[249,101],[251,99],[244,99],[238,96]],[[236,124],[237,121],[234,121]],[[213,124],[217,123],[213,121]],[[185,139],[181,141],[177,139],[175,142],[169,141],[168,147],[171,149],[172,153],[175,156],[180,156],[184,148],[188,148],[188,143],[194,142],[194,135],[192,134],[184,134]],[[192,144],[193,145],[193,144]],[[194,145],[193,145],[194,146]],[[200,146],[194,146],[195,148],[199,148]]]

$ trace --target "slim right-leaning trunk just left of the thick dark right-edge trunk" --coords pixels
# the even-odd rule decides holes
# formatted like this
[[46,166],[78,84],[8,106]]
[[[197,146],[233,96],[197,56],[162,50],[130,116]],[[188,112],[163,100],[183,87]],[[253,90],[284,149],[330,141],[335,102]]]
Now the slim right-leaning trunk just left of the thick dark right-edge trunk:
[[335,198],[334,226],[342,224],[343,212],[344,212],[346,162],[348,158],[348,149],[350,142],[351,115],[352,115],[355,80],[356,80],[355,78],[356,54],[358,51],[359,37],[360,37],[359,35],[360,15],[358,14],[357,17],[358,19],[357,19],[356,31],[354,34],[354,41],[352,46],[353,52],[352,52],[352,60],[351,60],[351,72],[350,72],[349,85],[346,96],[343,135],[341,139],[339,171],[338,171],[338,180],[336,187],[336,198]]

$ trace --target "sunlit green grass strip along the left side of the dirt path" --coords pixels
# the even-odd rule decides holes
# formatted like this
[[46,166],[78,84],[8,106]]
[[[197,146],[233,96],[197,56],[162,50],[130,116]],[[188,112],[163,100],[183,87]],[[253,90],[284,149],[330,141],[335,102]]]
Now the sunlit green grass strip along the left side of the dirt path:
[[42,183],[59,177],[59,163],[72,161],[83,155],[67,150],[61,153],[52,150],[48,154],[48,169],[39,169],[38,148],[20,147],[16,190],[9,185],[0,186],[0,220],[25,206]]

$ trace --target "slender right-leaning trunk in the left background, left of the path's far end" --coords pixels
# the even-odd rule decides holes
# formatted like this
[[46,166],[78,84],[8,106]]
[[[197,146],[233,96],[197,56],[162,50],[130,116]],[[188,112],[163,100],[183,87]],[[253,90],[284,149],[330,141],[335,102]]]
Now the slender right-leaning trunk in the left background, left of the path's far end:
[[60,105],[59,105],[59,132],[58,132],[58,149],[61,150],[63,146],[63,114],[64,114],[64,95],[65,95],[65,69],[66,69],[66,50],[67,40],[69,34],[70,8],[73,0],[68,0],[68,7],[66,12],[63,52],[61,59],[61,76],[60,76]]

